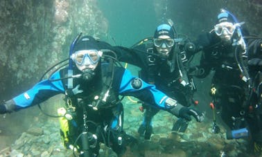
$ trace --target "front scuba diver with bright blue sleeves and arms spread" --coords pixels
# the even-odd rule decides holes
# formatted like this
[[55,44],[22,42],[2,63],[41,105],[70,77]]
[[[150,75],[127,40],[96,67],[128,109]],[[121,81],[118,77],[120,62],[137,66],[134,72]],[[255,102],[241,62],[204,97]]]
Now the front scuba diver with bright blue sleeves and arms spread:
[[124,154],[130,136],[123,131],[123,105],[119,95],[134,96],[180,118],[193,116],[198,122],[202,121],[197,111],[183,107],[154,85],[118,66],[112,54],[106,55],[114,54],[110,50],[112,46],[93,37],[80,36],[81,33],[71,44],[68,66],[62,66],[32,89],[1,104],[0,113],[26,109],[64,93],[66,105],[58,109],[63,124],[60,133],[64,146],[80,156],[98,156],[100,142],[118,156]]

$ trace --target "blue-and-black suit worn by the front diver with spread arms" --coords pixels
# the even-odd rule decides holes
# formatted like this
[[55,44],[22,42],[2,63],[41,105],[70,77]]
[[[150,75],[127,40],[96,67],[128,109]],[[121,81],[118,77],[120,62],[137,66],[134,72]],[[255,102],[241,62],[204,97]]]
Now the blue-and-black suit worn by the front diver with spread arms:
[[[101,65],[101,73],[103,75],[106,75],[108,66],[107,63]],[[49,80],[43,80],[35,84],[32,89],[12,98],[12,101],[15,102],[14,110],[24,109],[44,102],[54,95],[65,93],[67,91],[67,79],[58,81],[51,80],[57,80],[66,76],[67,68],[64,68],[54,73]],[[103,89],[104,84],[103,81],[101,81],[103,80],[101,79],[102,77],[95,76],[93,80],[89,80],[88,82],[82,79],[73,80],[73,87],[75,88],[79,85],[78,88],[82,90],[82,93],[77,93],[71,97],[72,104],[76,107],[76,115],[73,117],[73,120],[70,120],[71,128],[69,129],[71,135],[69,135],[69,140],[74,142],[82,132],[82,115],[83,107],[85,107],[87,120],[95,123],[88,123],[88,131],[96,133],[99,142],[105,142],[106,145],[111,145],[110,143],[112,143],[112,149],[117,154],[121,154],[125,148],[125,139],[123,138],[122,145],[119,145],[118,137],[126,136],[123,131],[123,105],[118,101],[119,95],[134,96],[144,102],[152,104],[158,109],[168,109],[168,107],[165,106],[165,100],[168,97],[161,91],[158,91],[154,85],[147,84],[131,75],[130,71],[125,68],[116,66],[114,68],[114,77],[112,78],[112,87],[109,93],[110,96],[107,98],[107,102],[95,111],[89,107],[89,104],[94,103],[94,98],[96,95],[99,95]],[[136,81],[136,83],[134,81]],[[81,101],[79,102],[79,100]],[[105,138],[103,138],[101,131]],[[106,141],[103,139],[106,139]],[[92,149],[95,154],[98,154],[99,151],[98,143],[96,147]],[[77,144],[81,148],[81,144],[79,142]]]

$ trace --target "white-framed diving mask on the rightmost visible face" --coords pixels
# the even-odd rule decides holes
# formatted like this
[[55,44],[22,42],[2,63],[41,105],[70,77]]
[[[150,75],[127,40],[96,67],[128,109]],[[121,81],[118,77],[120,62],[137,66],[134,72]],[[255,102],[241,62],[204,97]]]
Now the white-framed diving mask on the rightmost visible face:
[[230,22],[222,22],[220,24],[216,24],[216,26],[214,26],[214,30],[218,36],[222,35],[224,31],[226,31],[229,35],[233,35],[234,31],[236,30],[236,25]]

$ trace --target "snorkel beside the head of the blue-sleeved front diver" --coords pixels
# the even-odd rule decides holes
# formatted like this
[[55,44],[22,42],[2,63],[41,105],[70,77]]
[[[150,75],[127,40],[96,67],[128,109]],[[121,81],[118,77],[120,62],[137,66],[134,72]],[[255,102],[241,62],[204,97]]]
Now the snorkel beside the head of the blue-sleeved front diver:
[[68,89],[73,89],[73,59],[71,59],[71,55],[73,54],[73,48],[75,48],[75,45],[78,41],[78,39],[81,37],[82,33],[79,33],[75,39],[73,39],[73,42],[71,43],[70,50],[69,50],[69,67],[68,67]]

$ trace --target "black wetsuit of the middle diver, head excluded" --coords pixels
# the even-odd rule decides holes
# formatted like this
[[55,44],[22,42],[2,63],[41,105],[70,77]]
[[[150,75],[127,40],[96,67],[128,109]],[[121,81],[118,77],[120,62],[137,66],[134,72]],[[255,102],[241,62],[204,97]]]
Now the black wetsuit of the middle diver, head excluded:
[[[130,49],[120,46],[116,46],[115,48],[122,49],[116,50],[116,52],[121,52],[117,53],[119,61],[127,62],[141,68],[139,77],[150,84],[155,84],[157,89],[164,91],[166,95],[174,98],[185,107],[189,107],[193,104],[193,93],[195,92],[193,76],[188,75],[189,62],[195,54],[195,47],[193,45],[192,50],[186,49],[185,45],[189,41],[189,39],[184,39],[181,42],[175,43],[175,46],[171,50],[171,55],[167,59],[157,56],[157,50],[151,40],[144,43],[140,42]],[[141,125],[143,129],[140,127],[139,133],[143,133],[145,129],[148,129],[148,133],[146,132],[145,134],[145,138],[148,139],[152,133],[152,126],[150,124],[152,117],[155,116],[159,109],[153,109],[148,105],[143,105],[143,108],[146,109],[146,113]],[[184,132],[188,122],[182,120],[180,124],[173,127],[173,130]]]

